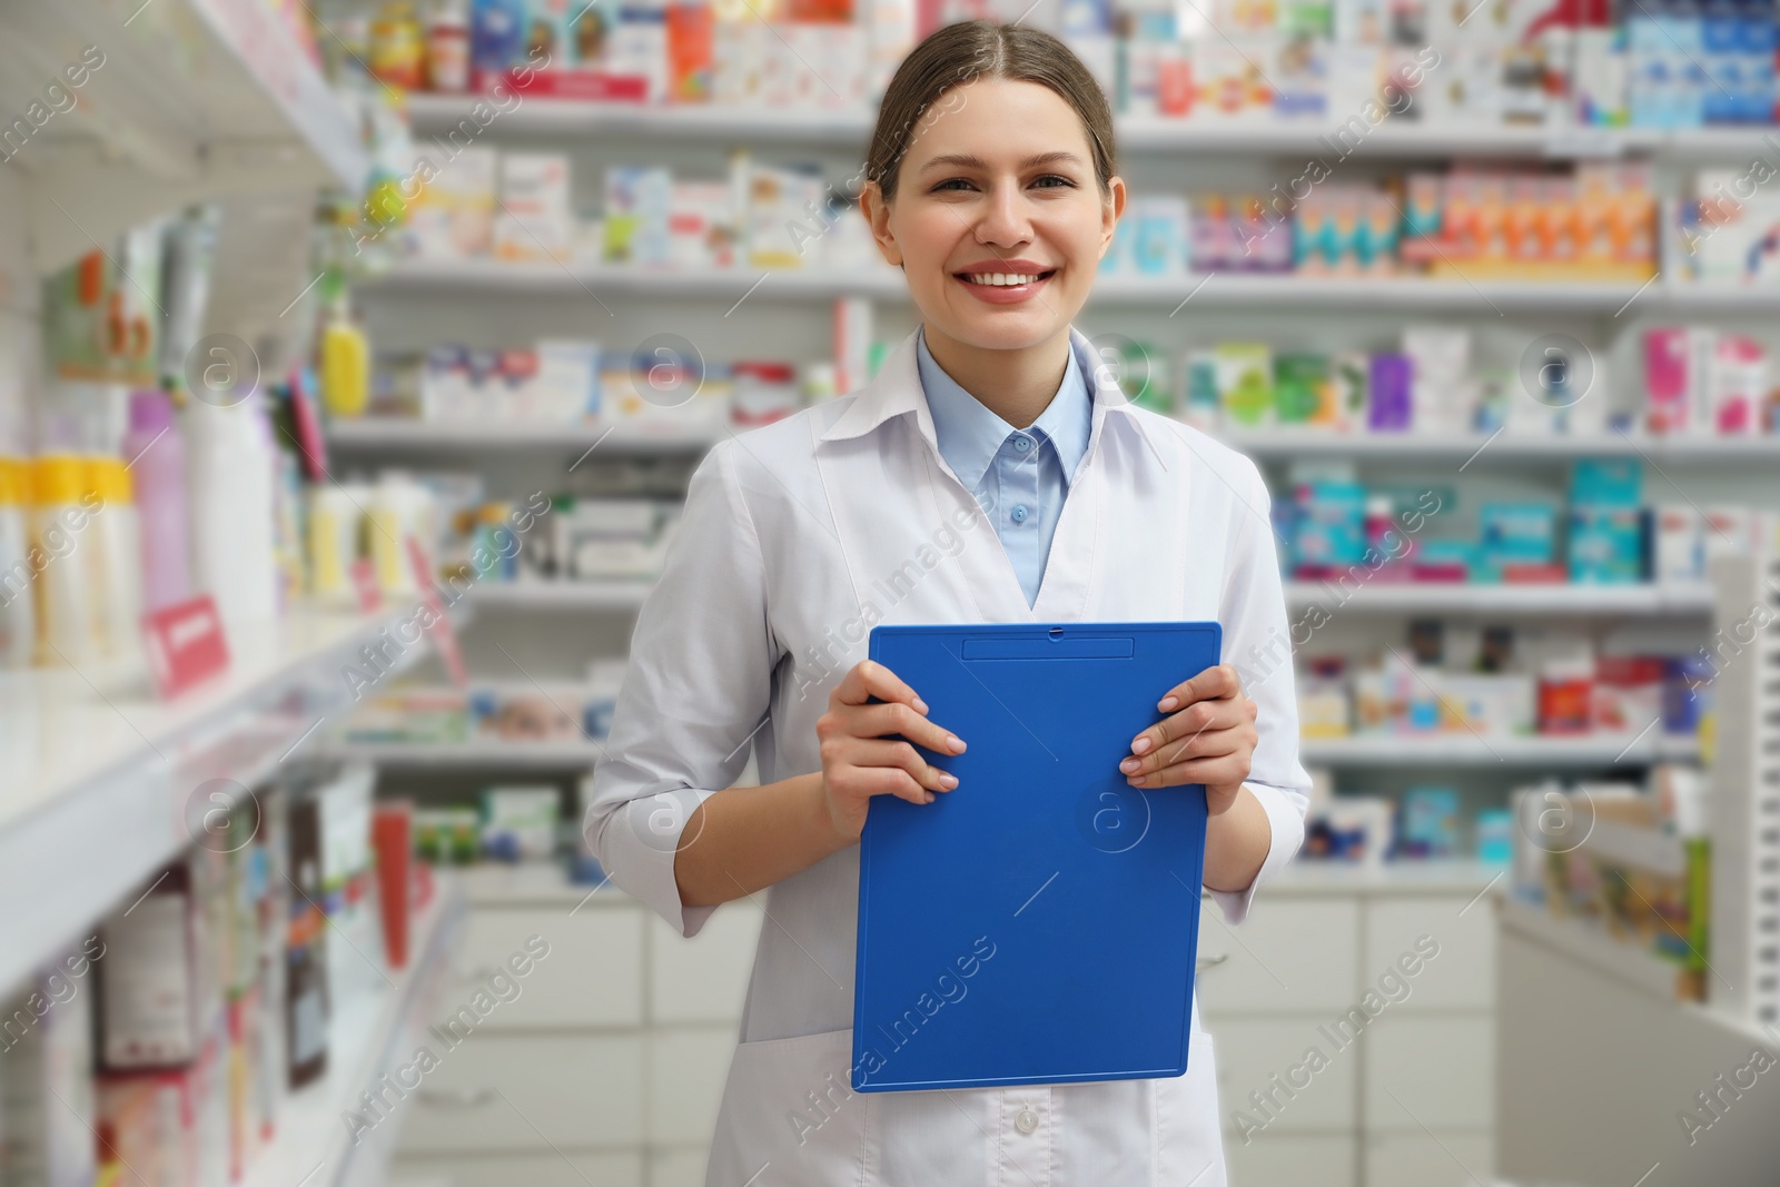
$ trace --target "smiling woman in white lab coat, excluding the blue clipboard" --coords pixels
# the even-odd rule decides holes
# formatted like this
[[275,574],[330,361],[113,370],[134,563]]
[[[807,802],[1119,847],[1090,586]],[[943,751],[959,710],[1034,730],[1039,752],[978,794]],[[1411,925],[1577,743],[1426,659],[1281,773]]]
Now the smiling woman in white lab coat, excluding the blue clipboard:
[[[892,80],[865,176],[860,206],[922,326],[856,395],[700,464],[584,828],[682,934],[767,890],[708,1187],[1212,1187],[1196,1004],[1178,1078],[849,1089],[870,801],[970,794],[885,737],[968,742],[860,662],[872,625],[1219,619],[1226,660],[1266,657],[1250,689],[1230,664],[1157,689],[1166,717],[1120,765],[1134,787],[1205,785],[1205,886],[1232,924],[1296,852],[1308,803],[1266,486],[1125,402],[1070,326],[1125,206],[1089,73],[1031,28],[947,27]],[[716,790],[749,744],[764,785]]]

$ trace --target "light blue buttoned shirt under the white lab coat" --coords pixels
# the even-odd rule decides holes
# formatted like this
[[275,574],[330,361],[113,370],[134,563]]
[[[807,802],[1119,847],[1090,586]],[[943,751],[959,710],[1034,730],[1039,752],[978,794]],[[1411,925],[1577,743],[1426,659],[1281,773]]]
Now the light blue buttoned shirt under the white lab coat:
[[958,386],[927,351],[926,331],[915,338],[915,361],[940,457],[995,525],[1025,603],[1032,605],[1070,479],[1088,452],[1093,425],[1093,393],[1075,349],[1070,349],[1063,384],[1029,429],[1015,429]]

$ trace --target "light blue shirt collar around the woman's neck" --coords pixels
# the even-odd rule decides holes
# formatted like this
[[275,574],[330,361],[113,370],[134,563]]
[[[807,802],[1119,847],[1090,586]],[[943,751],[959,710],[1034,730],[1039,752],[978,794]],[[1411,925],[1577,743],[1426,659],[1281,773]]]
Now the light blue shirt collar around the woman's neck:
[[[997,416],[983,400],[975,399],[945,374],[938,359],[927,349],[927,335],[915,333],[915,370],[920,375],[922,392],[927,397],[927,411],[933,415],[933,432],[940,447],[940,456],[958,475],[967,489],[975,489],[988,473],[990,464],[1013,432],[1011,424]],[[1088,431],[1093,420],[1093,397],[1082,381],[1082,368],[1075,359],[1072,343],[1068,363],[1063,370],[1063,383],[1056,395],[1040,413],[1038,420],[1025,431],[1040,441],[1050,441],[1063,463],[1063,480],[1068,484],[1077,463],[1088,452]]]

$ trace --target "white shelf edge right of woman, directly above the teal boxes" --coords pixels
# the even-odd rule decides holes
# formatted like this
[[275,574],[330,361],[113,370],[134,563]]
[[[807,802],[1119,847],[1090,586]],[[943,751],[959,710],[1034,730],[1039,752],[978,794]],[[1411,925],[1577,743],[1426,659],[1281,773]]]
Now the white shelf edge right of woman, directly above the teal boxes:
[[1775,463],[1780,436],[1648,436],[1641,432],[1331,432],[1321,429],[1219,429],[1225,445],[1251,457],[1381,461],[1572,461],[1652,457],[1673,463]]

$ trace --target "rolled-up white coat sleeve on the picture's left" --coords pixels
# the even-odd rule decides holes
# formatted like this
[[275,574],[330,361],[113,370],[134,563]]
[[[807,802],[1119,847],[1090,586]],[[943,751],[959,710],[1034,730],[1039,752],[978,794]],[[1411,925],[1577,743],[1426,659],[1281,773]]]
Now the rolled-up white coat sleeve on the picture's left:
[[637,614],[582,819],[612,883],[682,936],[696,936],[717,908],[680,902],[675,854],[692,810],[748,765],[778,660],[760,537],[735,464],[733,443],[721,441],[692,473],[660,580]]

